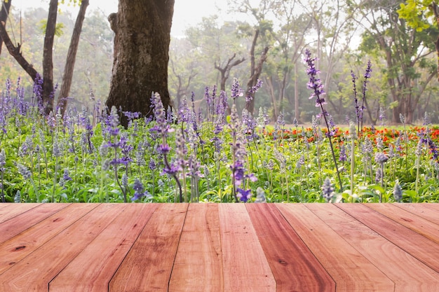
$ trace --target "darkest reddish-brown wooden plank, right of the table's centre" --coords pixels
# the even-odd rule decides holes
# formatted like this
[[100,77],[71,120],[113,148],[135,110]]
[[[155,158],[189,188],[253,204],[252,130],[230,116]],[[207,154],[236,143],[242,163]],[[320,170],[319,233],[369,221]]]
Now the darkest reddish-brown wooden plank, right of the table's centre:
[[335,291],[335,281],[274,204],[245,204],[276,279],[277,292]]

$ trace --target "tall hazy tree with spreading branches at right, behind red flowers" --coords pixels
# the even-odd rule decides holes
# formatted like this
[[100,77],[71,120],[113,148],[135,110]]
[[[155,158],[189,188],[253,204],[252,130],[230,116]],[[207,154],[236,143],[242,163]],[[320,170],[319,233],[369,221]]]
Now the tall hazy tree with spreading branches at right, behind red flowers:
[[[360,49],[374,53],[386,62],[385,78],[391,94],[392,121],[414,121],[414,112],[422,93],[436,74],[435,64],[428,58],[437,35],[419,32],[398,17],[400,1],[362,1],[356,4],[363,13],[365,32]],[[422,75],[426,74],[426,75]]]

